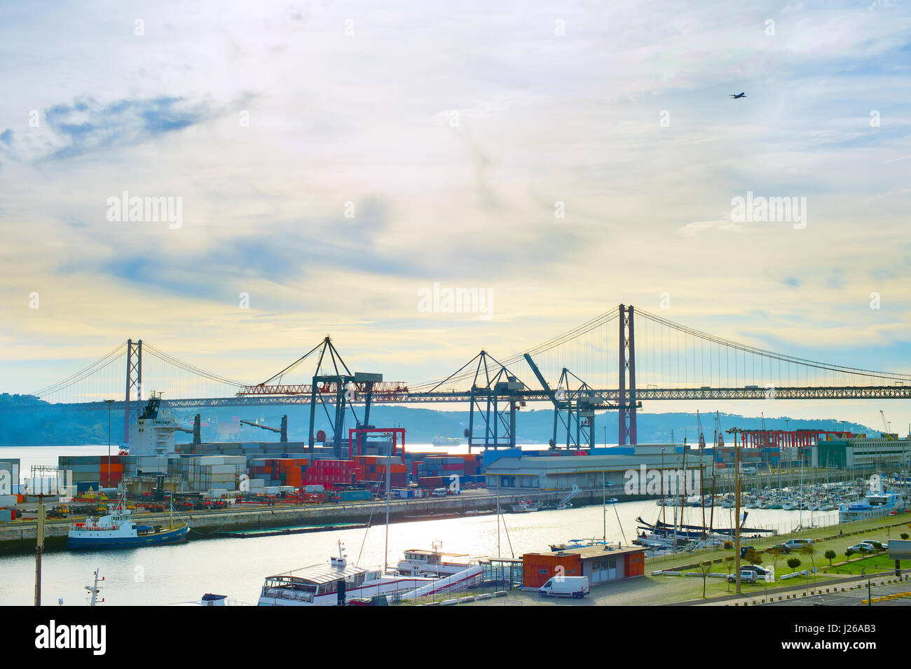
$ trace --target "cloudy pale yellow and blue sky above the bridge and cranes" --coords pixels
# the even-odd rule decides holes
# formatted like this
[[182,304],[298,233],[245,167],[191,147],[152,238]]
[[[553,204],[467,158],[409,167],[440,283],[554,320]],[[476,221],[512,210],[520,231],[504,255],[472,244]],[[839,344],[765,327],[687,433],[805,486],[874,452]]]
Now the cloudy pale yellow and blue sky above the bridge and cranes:
[[127,338],[256,382],[331,335],[430,380],[620,302],[911,371],[909,67],[898,2],[2,3],[0,391]]

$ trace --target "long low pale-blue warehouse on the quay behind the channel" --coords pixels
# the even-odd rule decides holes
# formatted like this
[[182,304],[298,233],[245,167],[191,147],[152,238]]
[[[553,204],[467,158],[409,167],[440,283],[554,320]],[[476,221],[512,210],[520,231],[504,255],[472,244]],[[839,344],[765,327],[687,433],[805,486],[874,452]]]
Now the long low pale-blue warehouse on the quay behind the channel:
[[508,452],[486,465],[486,486],[491,492],[507,493],[568,490],[574,485],[594,489],[603,484],[613,495],[655,494],[649,489],[650,475],[667,481],[671,473],[682,472],[688,488],[695,484],[688,494],[698,494],[699,481],[711,478],[711,452],[700,455],[698,449],[686,447],[684,458],[684,448],[682,444],[639,444],[593,449],[590,455],[589,451],[576,451],[578,455]]

